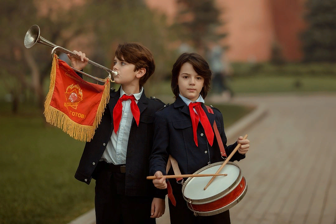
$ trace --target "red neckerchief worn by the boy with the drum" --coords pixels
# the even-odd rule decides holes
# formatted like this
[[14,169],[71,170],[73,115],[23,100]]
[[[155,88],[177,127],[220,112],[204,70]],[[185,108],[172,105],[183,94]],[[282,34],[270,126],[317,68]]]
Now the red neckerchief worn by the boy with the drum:
[[[195,107],[196,113],[194,111],[194,107]],[[191,122],[193,125],[194,141],[195,141],[196,146],[198,146],[197,125],[199,121],[201,122],[204,128],[205,136],[207,137],[210,146],[212,146],[214,133],[212,131],[212,127],[210,125],[209,119],[201,106],[201,102],[191,102],[189,104],[189,112],[190,112]]]

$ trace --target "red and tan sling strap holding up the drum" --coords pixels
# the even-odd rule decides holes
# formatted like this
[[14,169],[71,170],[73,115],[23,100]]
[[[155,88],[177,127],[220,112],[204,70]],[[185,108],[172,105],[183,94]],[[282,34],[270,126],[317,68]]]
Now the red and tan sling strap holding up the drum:
[[[210,106],[207,106],[207,105],[205,105],[205,106],[208,109],[208,112],[213,114],[212,108]],[[225,160],[227,158],[227,156],[226,156],[226,153],[225,153],[225,148],[224,148],[222,139],[221,139],[221,137],[219,135],[219,132],[218,132],[218,129],[217,129],[216,121],[213,122],[213,130],[215,132],[216,139],[217,139],[217,142],[218,142],[218,146],[219,146],[219,149],[220,149],[220,155]],[[166,173],[168,173],[170,167],[173,167],[173,171],[174,171],[175,175],[181,175],[181,171],[178,168],[177,161],[171,155],[169,155],[169,159],[168,159],[168,162],[167,162]],[[176,182],[183,184],[183,178],[176,178]],[[176,206],[176,200],[175,200],[175,197],[173,195],[173,190],[171,188],[171,185],[170,185],[168,179],[167,179],[167,190],[168,190],[168,198],[170,199],[171,203],[174,206]]]

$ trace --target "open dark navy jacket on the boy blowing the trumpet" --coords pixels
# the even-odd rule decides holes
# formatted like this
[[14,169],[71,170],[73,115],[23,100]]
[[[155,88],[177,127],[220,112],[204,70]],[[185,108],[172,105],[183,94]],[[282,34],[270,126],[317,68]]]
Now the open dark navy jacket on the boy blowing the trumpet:
[[[97,164],[109,142],[113,132],[113,108],[120,97],[118,91],[110,91],[110,101],[102,115],[101,122],[95,130],[93,139],[86,142],[79,162],[75,178],[89,184],[91,178],[96,179],[99,172]],[[140,110],[139,126],[133,118],[126,153],[126,189],[129,196],[155,196],[164,198],[165,191],[154,187],[149,175],[149,156],[151,154],[154,135],[154,113],[165,104],[142,95],[137,103]]]

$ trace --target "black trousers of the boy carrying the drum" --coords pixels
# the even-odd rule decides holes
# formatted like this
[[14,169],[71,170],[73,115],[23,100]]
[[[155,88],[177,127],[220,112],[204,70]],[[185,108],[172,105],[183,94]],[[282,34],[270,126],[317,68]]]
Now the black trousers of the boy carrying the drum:
[[176,207],[173,206],[169,200],[169,214],[170,223],[183,223],[183,224],[230,224],[230,212],[219,213],[213,216],[195,216],[193,211],[188,209],[187,202],[182,195],[182,184],[176,183],[175,179],[170,179],[171,188],[176,200]]

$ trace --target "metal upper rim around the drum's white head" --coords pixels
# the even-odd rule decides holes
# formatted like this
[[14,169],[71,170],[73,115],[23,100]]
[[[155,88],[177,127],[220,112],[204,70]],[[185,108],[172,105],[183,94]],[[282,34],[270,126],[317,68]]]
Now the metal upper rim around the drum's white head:
[[[222,165],[222,164],[223,164],[223,162],[217,162],[217,163],[213,163],[213,164],[211,164],[211,165],[212,165],[212,166],[217,166],[217,165]],[[239,183],[242,181],[242,178],[244,178],[244,177],[243,177],[243,172],[242,172],[242,170],[241,170],[240,167],[239,167],[237,164],[235,164],[234,162],[227,162],[227,164],[234,165],[234,166],[238,167],[238,169],[239,169],[239,175],[238,175],[237,179],[235,180],[235,182],[233,182],[233,183],[227,188],[227,189],[230,189],[230,190],[225,191],[225,192],[222,191],[222,192],[220,192],[220,193],[218,193],[218,194],[215,194],[215,195],[213,195],[213,196],[211,196],[211,197],[206,197],[206,198],[202,198],[202,199],[192,199],[192,198],[191,198],[191,199],[193,200],[193,204],[195,204],[195,205],[203,205],[203,204],[207,204],[207,203],[216,201],[216,200],[218,200],[218,199],[220,199],[220,198],[222,198],[222,197],[228,195],[229,193],[231,193],[231,192],[232,192],[232,191],[239,185]],[[199,174],[200,172],[202,172],[202,171],[204,171],[204,170],[206,170],[206,169],[208,169],[208,166],[199,169],[199,170],[196,171],[194,174]],[[184,200],[187,201],[187,202],[189,202],[189,198],[187,198],[187,197],[184,196],[184,189],[185,189],[185,186],[187,185],[187,183],[188,183],[192,178],[193,178],[193,177],[189,177],[189,178],[184,182],[184,184],[183,184],[183,186],[182,186],[182,195],[183,195]],[[223,192],[224,192],[224,193],[223,193]]]

